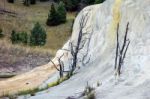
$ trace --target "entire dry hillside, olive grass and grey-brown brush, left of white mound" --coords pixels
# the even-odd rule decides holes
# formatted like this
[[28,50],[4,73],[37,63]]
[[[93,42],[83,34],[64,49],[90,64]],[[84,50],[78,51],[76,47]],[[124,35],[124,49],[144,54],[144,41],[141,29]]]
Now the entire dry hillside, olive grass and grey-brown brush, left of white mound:
[[[75,13],[67,14],[65,24],[48,27],[45,22],[51,5],[50,2],[38,2],[36,5],[26,7],[21,1],[16,0],[15,4],[9,4],[6,0],[0,2],[0,9],[16,13],[13,16],[8,13],[0,13],[0,28],[5,35],[5,38],[0,40],[0,72],[25,72],[48,63],[50,56],[54,56],[57,49],[61,48],[71,35]],[[45,46],[28,47],[11,44],[10,34],[12,30],[30,33],[36,22],[40,22],[46,29],[47,43]]]

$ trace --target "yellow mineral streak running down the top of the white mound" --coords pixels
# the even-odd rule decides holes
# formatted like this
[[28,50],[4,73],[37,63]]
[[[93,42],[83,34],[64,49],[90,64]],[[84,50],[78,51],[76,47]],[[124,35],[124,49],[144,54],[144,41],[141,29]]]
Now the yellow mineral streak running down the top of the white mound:
[[120,22],[120,17],[121,17],[121,13],[120,13],[121,2],[122,0],[115,0],[113,6],[113,19],[108,31],[108,38],[110,42],[115,41],[117,25]]

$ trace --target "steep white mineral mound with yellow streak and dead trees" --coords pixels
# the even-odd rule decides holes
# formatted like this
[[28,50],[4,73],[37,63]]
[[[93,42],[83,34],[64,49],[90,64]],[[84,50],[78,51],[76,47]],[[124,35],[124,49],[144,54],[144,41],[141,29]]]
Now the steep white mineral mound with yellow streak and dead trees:
[[[80,20],[88,21],[83,29],[87,33],[85,46],[80,50],[77,74],[62,84],[37,93],[31,99],[66,99],[83,92],[87,82],[96,88],[97,99],[149,99],[150,81],[150,1],[106,0],[101,5],[85,8],[77,16],[73,35],[63,49],[76,44]],[[119,23],[119,43],[122,46],[129,22],[127,39],[130,41],[119,78],[115,77],[116,31]],[[90,39],[87,39],[90,38]],[[56,57],[65,53],[62,60],[70,64],[70,53],[59,50]],[[84,57],[86,56],[86,57]],[[90,61],[84,65],[84,60]],[[54,80],[50,78],[47,82]],[[46,83],[47,83],[46,82]],[[96,87],[97,82],[102,83]],[[77,98],[78,99],[78,98]]]

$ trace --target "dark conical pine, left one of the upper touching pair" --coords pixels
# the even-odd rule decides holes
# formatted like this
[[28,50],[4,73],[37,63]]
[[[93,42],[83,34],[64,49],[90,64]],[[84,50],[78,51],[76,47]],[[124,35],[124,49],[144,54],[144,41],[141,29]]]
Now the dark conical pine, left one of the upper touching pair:
[[51,5],[51,10],[49,11],[46,24],[48,26],[55,26],[59,24],[59,13],[56,11],[54,4]]

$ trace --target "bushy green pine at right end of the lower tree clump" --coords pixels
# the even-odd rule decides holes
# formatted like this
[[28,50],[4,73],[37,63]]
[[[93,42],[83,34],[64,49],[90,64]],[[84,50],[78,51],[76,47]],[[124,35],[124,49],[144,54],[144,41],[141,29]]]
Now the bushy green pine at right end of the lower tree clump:
[[46,31],[37,22],[31,31],[30,44],[33,46],[42,46],[46,43]]

